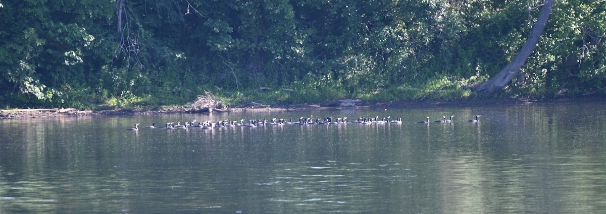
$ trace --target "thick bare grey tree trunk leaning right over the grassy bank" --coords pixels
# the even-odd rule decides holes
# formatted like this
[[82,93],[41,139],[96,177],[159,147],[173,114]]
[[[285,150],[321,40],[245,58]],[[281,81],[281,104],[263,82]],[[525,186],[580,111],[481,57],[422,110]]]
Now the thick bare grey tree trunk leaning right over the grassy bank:
[[494,91],[500,91],[505,88],[505,86],[513,80],[513,77],[518,74],[522,66],[524,66],[524,63],[526,63],[526,60],[528,60],[530,54],[532,54],[536,44],[539,43],[539,37],[541,37],[545,25],[547,25],[547,19],[549,19],[549,15],[551,14],[553,2],[555,2],[555,0],[545,1],[541,8],[541,15],[539,15],[539,19],[534,23],[532,30],[530,30],[530,36],[528,36],[526,43],[522,46],[522,50],[520,50],[518,55],[514,57],[501,72],[496,74],[496,76],[490,78],[486,82],[474,85],[471,88],[473,91],[482,94],[491,94]]

